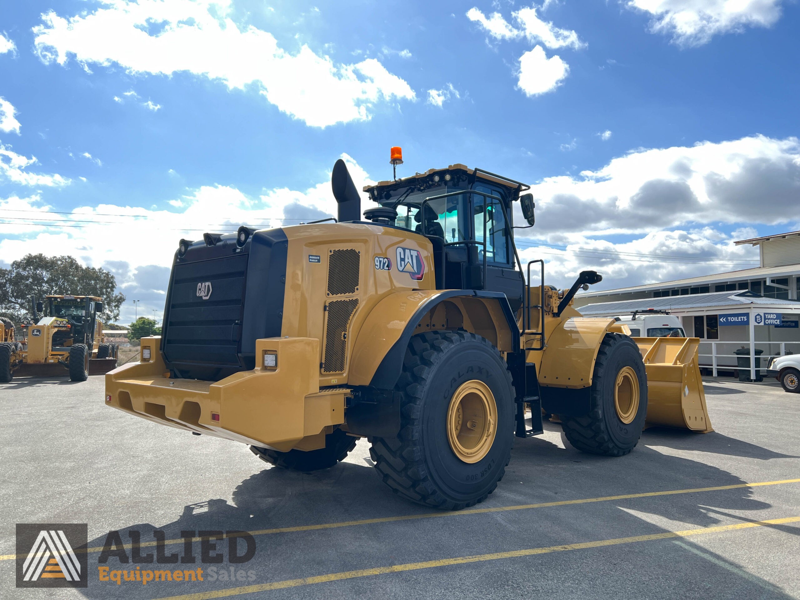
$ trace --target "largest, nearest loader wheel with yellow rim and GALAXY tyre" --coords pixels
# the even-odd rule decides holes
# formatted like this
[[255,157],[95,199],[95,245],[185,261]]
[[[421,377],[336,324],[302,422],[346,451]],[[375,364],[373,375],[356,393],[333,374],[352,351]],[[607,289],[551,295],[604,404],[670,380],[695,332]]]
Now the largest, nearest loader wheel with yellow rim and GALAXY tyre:
[[395,390],[402,394],[398,436],[371,440],[383,482],[443,510],[485,500],[514,441],[514,387],[497,348],[466,331],[415,335]]

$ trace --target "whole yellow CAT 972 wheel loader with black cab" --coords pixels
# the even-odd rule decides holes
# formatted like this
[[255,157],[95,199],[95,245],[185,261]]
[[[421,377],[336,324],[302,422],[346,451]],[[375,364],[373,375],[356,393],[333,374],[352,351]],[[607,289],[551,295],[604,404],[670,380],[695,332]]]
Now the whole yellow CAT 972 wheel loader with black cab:
[[363,216],[342,161],[332,187],[337,219],[181,240],[162,336],[106,374],[106,404],[295,470],[366,437],[383,482],[448,510],[494,490],[543,413],[607,456],[645,426],[710,430],[697,339],[582,318],[574,294],[600,275],[556,290],[522,265],[528,186],[456,164],[367,186]]

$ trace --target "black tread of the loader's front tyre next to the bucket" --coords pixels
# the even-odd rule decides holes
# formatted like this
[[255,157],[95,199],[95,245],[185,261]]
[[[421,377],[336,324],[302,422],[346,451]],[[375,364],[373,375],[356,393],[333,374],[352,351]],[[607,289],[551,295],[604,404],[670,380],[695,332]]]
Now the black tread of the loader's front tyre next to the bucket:
[[[562,417],[562,430],[566,439],[576,448],[588,454],[602,454],[603,456],[625,456],[638,444],[634,443],[628,449],[614,445],[602,418],[602,386],[598,378],[606,377],[606,362],[613,346],[630,340],[622,334],[606,334],[598,350],[597,360],[594,362],[594,378],[591,388],[589,414],[581,417]],[[633,342],[633,340],[630,340]],[[640,382],[641,385],[641,382]]]

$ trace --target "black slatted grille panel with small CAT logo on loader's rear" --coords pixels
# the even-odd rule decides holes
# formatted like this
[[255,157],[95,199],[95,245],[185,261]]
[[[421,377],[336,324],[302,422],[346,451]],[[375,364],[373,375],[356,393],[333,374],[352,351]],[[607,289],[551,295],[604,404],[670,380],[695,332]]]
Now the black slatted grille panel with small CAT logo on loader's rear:
[[164,327],[169,362],[239,366],[247,258],[235,254],[175,265]]

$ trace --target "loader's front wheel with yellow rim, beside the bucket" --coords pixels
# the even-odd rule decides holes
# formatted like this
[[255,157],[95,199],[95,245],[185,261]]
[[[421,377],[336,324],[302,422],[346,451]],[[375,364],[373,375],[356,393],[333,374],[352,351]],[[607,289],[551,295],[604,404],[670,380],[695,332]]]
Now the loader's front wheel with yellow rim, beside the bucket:
[[[638,402],[628,398],[625,386],[638,387]],[[581,417],[559,415],[564,434],[582,452],[623,456],[642,436],[646,415],[647,374],[642,354],[628,336],[606,334],[594,362],[590,412]]]

